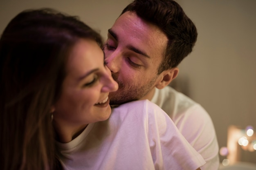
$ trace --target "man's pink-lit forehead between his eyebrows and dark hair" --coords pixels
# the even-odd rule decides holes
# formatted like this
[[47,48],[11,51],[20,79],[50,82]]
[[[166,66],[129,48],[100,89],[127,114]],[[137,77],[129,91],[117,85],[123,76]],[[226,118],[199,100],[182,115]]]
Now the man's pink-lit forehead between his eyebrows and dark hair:
[[142,51],[150,58],[162,59],[168,38],[156,25],[139,18],[135,12],[127,11],[114,23],[109,33],[130,49]]

